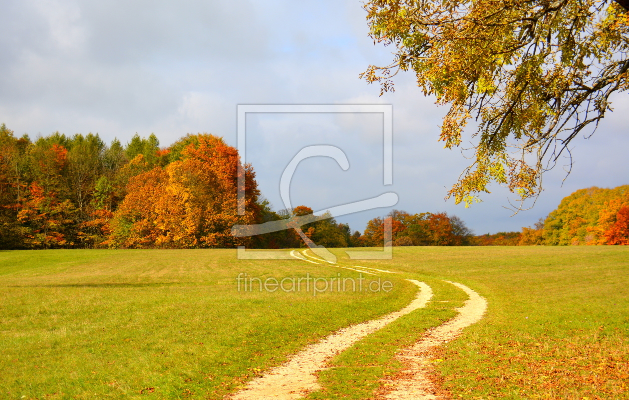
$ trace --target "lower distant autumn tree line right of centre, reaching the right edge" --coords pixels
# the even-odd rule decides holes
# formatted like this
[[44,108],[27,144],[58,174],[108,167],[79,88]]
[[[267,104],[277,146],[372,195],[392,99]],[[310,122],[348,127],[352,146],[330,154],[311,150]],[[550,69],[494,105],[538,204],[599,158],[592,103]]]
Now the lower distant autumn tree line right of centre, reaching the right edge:
[[[578,246],[629,245],[629,185],[577,190],[533,227],[521,232],[474,235],[463,220],[446,213],[411,215],[393,210],[394,246]],[[384,219],[367,223],[359,246],[382,246]]]

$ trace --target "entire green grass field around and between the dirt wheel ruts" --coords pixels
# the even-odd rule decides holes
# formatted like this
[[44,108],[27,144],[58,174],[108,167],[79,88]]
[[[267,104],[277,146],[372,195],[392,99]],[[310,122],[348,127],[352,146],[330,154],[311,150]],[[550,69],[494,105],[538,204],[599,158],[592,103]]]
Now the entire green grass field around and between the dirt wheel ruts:
[[[333,252],[349,264],[341,249]],[[486,318],[442,349],[435,379],[464,399],[626,399],[629,249],[402,247],[386,293],[238,291],[264,280],[356,278],[298,260],[233,250],[0,252],[0,398],[220,399],[338,328],[435,298],[356,343],[320,373],[311,399],[367,399],[401,365],[396,350],[455,315],[465,294]],[[368,278],[369,280],[369,278]]]

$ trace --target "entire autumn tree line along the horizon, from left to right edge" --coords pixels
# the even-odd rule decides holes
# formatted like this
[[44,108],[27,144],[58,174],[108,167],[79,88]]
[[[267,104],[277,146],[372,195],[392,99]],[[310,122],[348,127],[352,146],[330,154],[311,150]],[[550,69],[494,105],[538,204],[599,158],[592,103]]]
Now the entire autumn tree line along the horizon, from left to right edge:
[[[237,224],[313,214],[306,205],[272,209],[251,165],[212,134],[187,134],[160,148],[154,134],[109,145],[98,134],[54,132],[34,141],[0,126],[0,249],[296,248],[294,230],[234,237]],[[238,174],[245,181],[245,215],[237,213]],[[589,188],[522,232],[475,236],[459,217],[393,210],[394,246],[515,246],[629,244],[629,186]],[[326,247],[384,244],[385,218],[361,234],[331,215],[304,225]]]

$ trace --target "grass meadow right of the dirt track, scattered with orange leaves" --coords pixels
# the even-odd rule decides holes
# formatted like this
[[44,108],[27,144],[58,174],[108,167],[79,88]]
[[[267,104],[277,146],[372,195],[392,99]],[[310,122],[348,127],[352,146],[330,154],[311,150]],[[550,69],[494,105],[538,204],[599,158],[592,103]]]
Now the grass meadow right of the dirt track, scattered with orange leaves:
[[487,299],[485,318],[435,355],[444,396],[629,398],[626,247],[399,247],[381,263]]

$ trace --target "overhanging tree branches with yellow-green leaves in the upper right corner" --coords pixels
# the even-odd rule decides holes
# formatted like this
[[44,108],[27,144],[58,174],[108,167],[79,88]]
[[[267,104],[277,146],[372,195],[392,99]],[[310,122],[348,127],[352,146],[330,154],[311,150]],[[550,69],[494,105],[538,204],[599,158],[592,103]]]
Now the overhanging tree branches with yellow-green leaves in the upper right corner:
[[370,36],[392,46],[394,60],[361,77],[382,94],[413,70],[425,95],[450,105],[439,139],[474,151],[448,192],[455,202],[478,201],[493,181],[536,197],[543,171],[569,157],[572,139],[591,134],[610,95],[629,85],[627,3],[370,0]]

